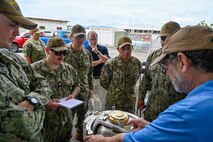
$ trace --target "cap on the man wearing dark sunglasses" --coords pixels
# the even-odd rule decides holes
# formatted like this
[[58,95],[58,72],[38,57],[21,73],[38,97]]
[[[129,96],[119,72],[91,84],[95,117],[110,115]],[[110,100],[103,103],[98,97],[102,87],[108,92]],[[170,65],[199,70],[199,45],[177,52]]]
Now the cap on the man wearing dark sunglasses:
[[50,38],[47,42],[47,47],[54,51],[69,51],[66,47],[64,40],[60,37]]

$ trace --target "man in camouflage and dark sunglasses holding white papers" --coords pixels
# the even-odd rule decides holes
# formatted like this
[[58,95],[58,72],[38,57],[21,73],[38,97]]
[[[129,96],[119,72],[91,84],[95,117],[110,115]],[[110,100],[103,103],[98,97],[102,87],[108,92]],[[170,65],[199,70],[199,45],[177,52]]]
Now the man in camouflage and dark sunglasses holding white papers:
[[68,54],[66,44],[61,38],[50,38],[46,48],[47,58],[31,64],[39,74],[48,80],[53,90],[52,99],[46,107],[42,131],[44,141],[69,142],[72,137],[70,108],[79,104],[79,101],[73,98],[79,94],[80,85],[76,70],[63,62],[64,57]]

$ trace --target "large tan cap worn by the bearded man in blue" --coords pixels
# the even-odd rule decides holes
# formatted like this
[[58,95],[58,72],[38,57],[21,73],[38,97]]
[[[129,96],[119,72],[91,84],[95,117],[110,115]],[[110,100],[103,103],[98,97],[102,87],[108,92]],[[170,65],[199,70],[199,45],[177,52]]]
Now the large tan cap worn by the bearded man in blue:
[[161,56],[151,66],[171,53],[205,49],[213,49],[213,30],[207,26],[187,26],[167,37]]

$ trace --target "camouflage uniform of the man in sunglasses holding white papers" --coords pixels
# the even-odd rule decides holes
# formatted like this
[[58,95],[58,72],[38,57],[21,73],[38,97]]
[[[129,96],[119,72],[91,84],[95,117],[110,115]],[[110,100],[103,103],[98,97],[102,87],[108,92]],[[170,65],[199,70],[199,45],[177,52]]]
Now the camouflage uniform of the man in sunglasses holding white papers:
[[[45,63],[45,59],[35,62],[31,66],[49,82],[53,90],[52,98],[67,97],[74,87],[80,85],[76,70],[67,63],[60,64],[57,72]],[[71,110],[64,107],[57,110],[46,110],[42,134],[44,142],[69,142],[71,131]]]

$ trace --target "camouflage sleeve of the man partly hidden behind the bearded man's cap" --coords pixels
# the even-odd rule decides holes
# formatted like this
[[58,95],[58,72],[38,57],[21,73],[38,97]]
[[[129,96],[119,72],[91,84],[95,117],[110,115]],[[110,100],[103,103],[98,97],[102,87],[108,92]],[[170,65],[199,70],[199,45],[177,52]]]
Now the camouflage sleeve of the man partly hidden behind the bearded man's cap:
[[142,79],[139,82],[139,95],[138,95],[138,100],[144,100],[146,97],[147,91],[151,90],[151,76],[150,76],[150,71],[149,71],[149,66],[152,61],[152,54],[148,56],[147,58],[147,65],[145,67],[144,75]]

